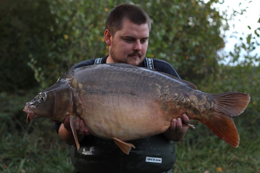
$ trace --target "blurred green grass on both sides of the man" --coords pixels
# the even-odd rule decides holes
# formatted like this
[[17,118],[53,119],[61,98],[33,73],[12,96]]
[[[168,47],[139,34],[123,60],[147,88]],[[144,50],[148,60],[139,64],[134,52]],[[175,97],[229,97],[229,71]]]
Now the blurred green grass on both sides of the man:
[[[70,146],[58,137],[54,123],[37,119],[26,124],[23,108],[38,91],[0,93],[0,172],[42,173],[72,172]],[[252,112],[251,112],[252,114]],[[206,125],[192,121],[181,142],[176,142],[177,162],[174,172],[247,173],[260,172],[259,113],[250,119],[244,112],[234,119],[240,144],[234,148],[216,137]]]

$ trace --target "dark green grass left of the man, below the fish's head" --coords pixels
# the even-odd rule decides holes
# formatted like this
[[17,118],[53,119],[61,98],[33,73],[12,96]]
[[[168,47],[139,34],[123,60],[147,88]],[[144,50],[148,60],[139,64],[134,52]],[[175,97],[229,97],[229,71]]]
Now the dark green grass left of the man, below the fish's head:
[[57,138],[54,122],[42,119],[26,123],[23,108],[36,92],[0,93],[0,172],[70,173],[70,147]]

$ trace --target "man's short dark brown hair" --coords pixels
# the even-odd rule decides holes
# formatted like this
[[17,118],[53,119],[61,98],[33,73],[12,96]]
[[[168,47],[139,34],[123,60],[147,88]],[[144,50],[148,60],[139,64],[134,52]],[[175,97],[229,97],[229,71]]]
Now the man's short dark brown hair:
[[108,14],[106,29],[114,35],[116,31],[121,30],[124,19],[128,19],[138,25],[147,23],[148,29],[151,31],[149,16],[142,8],[133,4],[121,4],[114,7]]

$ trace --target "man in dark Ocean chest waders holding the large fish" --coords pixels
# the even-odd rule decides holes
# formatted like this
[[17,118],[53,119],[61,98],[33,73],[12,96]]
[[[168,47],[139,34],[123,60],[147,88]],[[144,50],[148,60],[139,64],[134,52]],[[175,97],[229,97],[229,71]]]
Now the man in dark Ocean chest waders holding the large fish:
[[[109,46],[109,55],[80,62],[72,69],[97,63],[128,63],[140,67],[154,67],[157,71],[179,78],[173,67],[165,61],[144,58],[150,30],[151,22],[144,10],[130,4],[118,5],[112,9],[106,21],[104,37]],[[113,140],[92,136],[79,116],[76,120],[79,151],[75,146],[68,117],[65,118],[64,124],[57,123],[55,127],[62,140],[73,145],[71,160],[75,167],[74,172],[151,173],[172,172],[176,157],[173,141],[181,140],[187,131],[187,127],[183,127],[182,123],[190,123],[185,114],[182,120],[172,119],[171,127],[162,134],[129,141],[136,147],[129,155],[123,153]]]

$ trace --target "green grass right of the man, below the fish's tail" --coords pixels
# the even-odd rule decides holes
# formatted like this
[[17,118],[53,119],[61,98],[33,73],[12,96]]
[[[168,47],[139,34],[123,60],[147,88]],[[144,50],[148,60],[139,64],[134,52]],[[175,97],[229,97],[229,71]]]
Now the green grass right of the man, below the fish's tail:
[[176,143],[174,172],[260,172],[260,127],[248,126],[243,115],[233,118],[240,136],[238,148],[222,141],[202,123],[190,129]]

